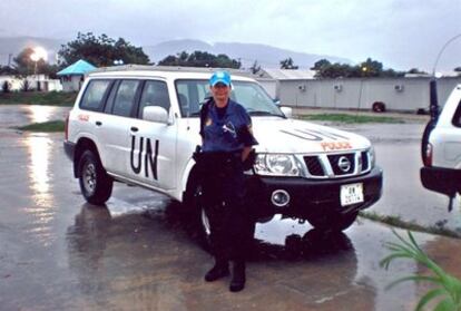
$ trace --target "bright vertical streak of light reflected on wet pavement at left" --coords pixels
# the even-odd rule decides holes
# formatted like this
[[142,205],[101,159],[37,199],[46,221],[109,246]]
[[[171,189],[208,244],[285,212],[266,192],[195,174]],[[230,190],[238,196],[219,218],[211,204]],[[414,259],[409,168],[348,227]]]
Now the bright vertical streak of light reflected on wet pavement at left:
[[52,140],[47,135],[31,135],[26,137],[24,144],[30,156],[28,174],[33,200],[33,204],[26,212],[35,216],[33,227],[29,231],[48,245],[52,236],[49,223],[56,213],[49,171]]

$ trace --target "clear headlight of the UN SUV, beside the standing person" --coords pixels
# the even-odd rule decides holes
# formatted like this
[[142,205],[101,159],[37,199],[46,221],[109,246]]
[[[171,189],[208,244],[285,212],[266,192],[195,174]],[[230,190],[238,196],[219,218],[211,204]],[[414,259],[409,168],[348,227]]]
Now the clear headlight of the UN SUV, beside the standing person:
[[301,176],[301,169],[293,155],[258,154],[254,165],[258,175]]

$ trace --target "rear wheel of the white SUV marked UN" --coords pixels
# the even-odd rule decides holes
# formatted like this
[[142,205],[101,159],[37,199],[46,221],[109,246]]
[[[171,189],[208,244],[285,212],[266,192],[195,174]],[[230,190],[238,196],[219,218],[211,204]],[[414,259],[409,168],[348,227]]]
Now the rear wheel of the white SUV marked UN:
[[78,162],[80,191],[88,203],[104,205],[112,193],[114,181],[107,175],[98,156],[85,150]]

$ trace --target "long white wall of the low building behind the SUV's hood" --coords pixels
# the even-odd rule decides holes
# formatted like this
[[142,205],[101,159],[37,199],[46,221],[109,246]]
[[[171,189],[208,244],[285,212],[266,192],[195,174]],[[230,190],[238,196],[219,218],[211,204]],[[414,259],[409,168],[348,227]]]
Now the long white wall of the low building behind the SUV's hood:
[[[282,105],[293,107],[371,109],[373,103],[382,101],[389,110],[416,111],[420,108],[429,108],[429,78],[281,80],[278,94]],[[438,79],[439,105],[444,105],[458,84],[461,84],[461,77]]]

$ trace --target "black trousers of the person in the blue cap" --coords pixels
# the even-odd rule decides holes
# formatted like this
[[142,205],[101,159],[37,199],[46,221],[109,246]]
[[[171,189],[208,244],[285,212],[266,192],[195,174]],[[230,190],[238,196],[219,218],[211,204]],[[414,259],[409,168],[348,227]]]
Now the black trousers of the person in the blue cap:
[[245,261],[252,236],[241,154],[205,153],[200,162],[212,252],[217,261]]

